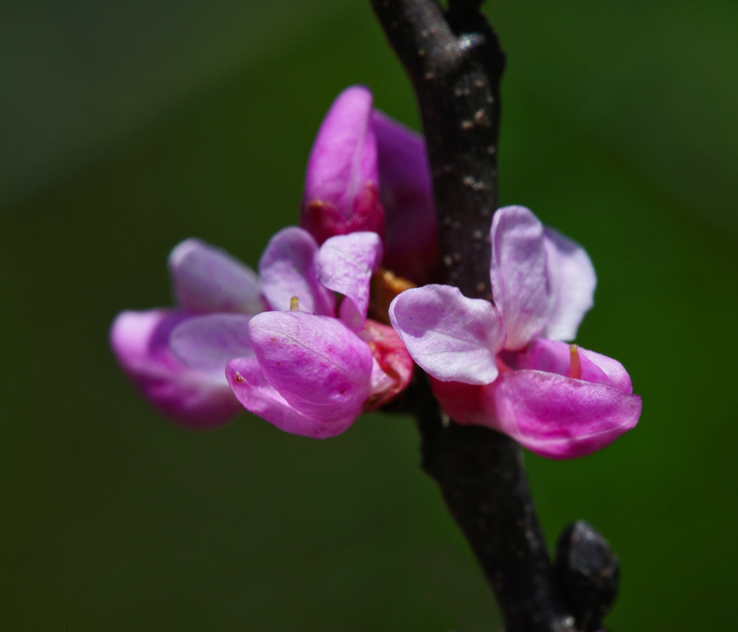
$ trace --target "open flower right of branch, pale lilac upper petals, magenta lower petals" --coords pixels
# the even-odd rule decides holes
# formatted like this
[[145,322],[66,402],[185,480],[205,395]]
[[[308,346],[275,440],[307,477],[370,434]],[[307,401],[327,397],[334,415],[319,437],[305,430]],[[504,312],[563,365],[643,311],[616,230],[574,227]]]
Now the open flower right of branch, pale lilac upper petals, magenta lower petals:
[[458,423],[554,459],[603,448],[638,423],[641,397],[618,361],[562,342],[593,305],[587,253],[523,206],[497,210],[490,240],[494,306],[426,285],[397,296],[393,326]]

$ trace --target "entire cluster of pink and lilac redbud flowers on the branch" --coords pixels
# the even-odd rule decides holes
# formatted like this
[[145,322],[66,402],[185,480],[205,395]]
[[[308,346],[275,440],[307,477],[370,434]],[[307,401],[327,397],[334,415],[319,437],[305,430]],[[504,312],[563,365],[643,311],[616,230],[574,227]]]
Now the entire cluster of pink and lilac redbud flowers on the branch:
[[354,86],[318,131],[300,227],[272,237],[258,274],[185,240],[169,257],[176,308],[120,313],[111,346],[145,397],[190,426],[245,407],[332,437],[406,388],[415,361],[458,423],[553,458],[607,445],[641,400],[617,361],[562,342],[592,306],[589,257],[520,206],[497,211],[490,238],[494,305],[424,285],[438,271],[424,141]]

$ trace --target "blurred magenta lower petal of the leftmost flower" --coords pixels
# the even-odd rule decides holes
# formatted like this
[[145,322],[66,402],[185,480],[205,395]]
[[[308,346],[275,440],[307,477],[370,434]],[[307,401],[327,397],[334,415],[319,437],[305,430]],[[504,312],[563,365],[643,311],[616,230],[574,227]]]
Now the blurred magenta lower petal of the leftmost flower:
[[174,327],[189,316],[171,310],[126,311],[110,329],[120,365],[161,412],[188,426],[215,426],[241,409],[227,384],[183,364],[169,348]]

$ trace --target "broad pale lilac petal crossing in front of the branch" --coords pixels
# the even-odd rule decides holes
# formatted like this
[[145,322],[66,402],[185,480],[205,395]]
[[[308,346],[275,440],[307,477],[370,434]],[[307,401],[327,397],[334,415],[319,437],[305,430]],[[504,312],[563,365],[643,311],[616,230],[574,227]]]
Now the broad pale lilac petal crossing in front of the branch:
[[486,384],[497,377],[503,345],[500,313],[449,285],[404,291],[390,304],[390,322],[413,360],[434,378]]

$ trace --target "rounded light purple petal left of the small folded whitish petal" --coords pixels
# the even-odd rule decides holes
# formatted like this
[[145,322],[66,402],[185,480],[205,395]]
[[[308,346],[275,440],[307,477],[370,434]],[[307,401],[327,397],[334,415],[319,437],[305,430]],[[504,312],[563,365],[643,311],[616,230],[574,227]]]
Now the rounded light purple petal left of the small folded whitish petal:
[[275,310],[289,310],[297,296],[300,311],[333,316],[333,294],[318,281],[318,246],[297,226],[277,232],[261,255],[259,275],[264,296]]

